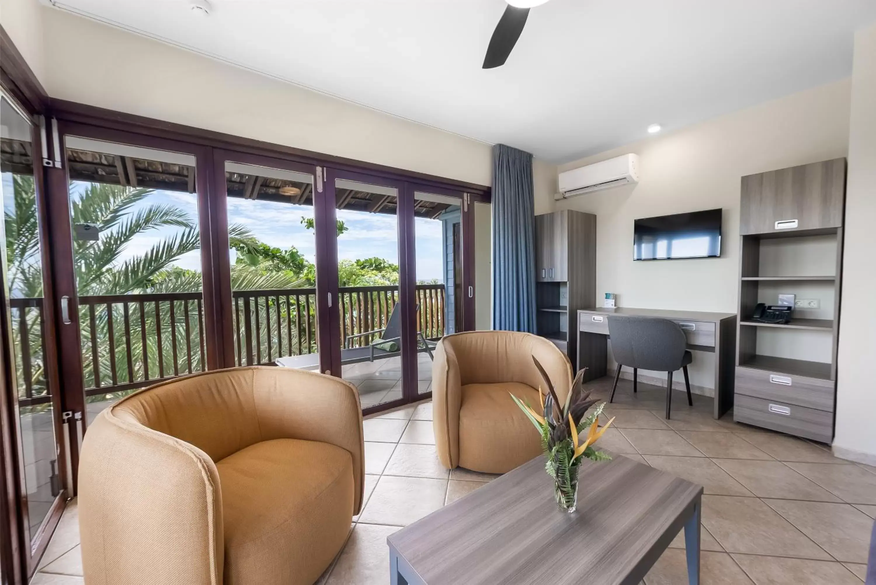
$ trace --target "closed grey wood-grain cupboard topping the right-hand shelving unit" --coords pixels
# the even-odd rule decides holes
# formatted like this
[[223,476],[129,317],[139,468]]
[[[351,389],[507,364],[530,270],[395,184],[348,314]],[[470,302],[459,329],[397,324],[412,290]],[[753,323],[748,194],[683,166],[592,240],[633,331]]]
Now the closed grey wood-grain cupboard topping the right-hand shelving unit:
[[845,159],[742,178],[739,233],[769,234],[843,225]]

